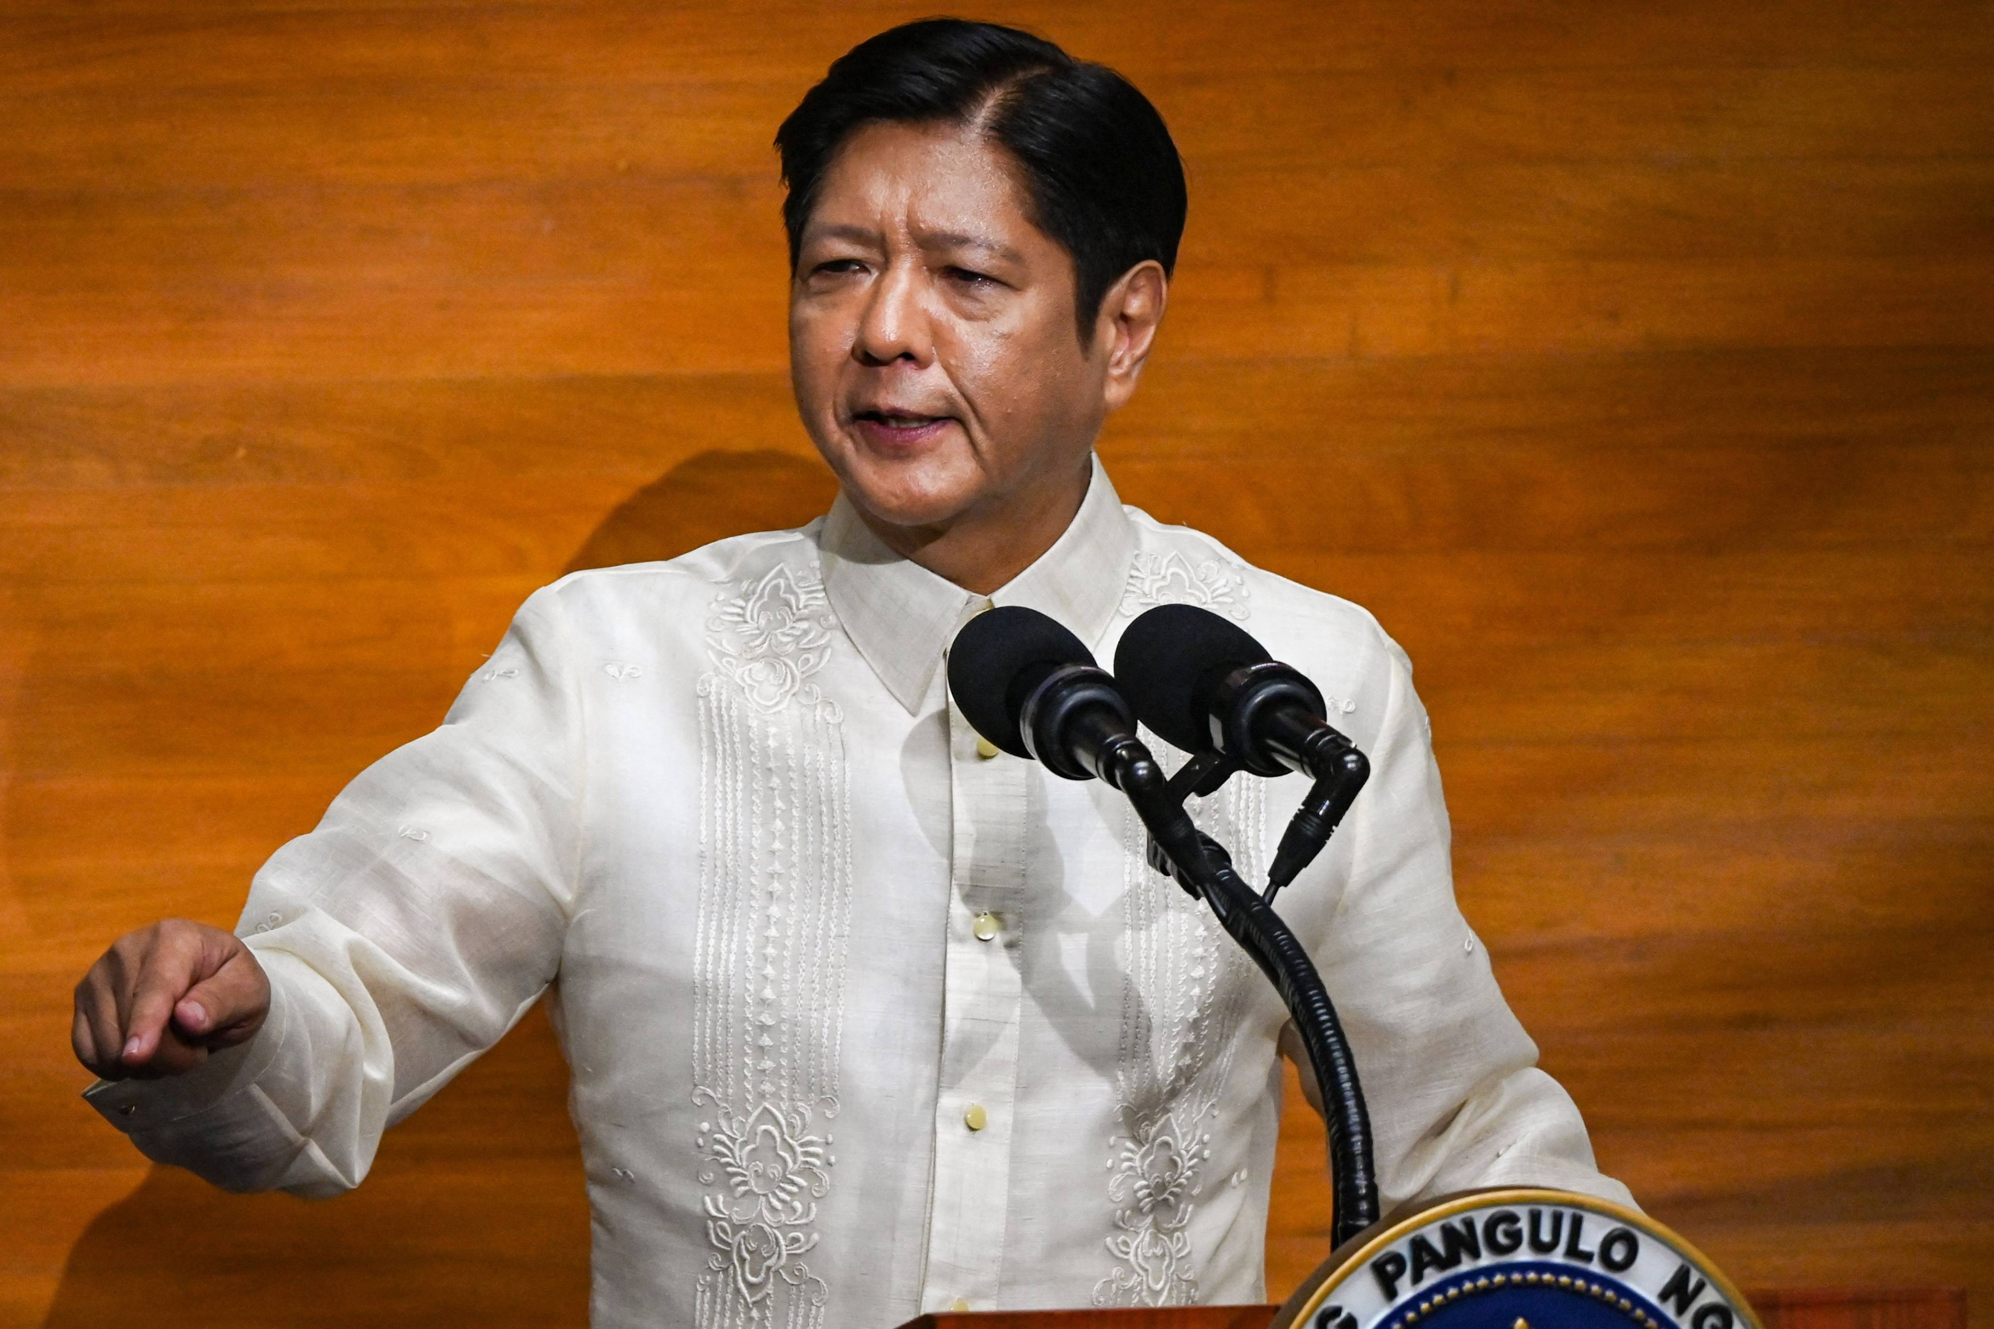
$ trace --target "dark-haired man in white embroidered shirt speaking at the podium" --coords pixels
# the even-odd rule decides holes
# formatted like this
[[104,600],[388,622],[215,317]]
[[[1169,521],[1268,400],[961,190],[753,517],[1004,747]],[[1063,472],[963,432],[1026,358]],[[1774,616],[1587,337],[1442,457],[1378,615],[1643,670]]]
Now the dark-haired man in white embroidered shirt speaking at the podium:
[[[947,697],[971,616],[1111,658],[1184,600],[1334,697],[1374,763],[1282,913],[1342,1006],[1386,1207],[1499,1182],[1625,1199],[1460,917],[1426,717],[1362,610],[1123,508],[1184,221],[1113,72],[935,20],[782,126],[804,530],[536,592],[445,725],[257,875],[78,986],[104,1116],[219,1186],[357,1186],[381,1132],[546,998],[598,1325],[1262,1295],[1284,1010],[1143,863],[1119,795]],[[1196,809],[1248,877],[1300,797]]]

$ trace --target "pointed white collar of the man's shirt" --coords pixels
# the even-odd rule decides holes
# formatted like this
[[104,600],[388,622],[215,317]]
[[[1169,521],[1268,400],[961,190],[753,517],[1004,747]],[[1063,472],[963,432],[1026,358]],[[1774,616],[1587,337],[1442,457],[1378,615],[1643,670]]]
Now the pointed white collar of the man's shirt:
[[1035,564],[977,596],[889,550],[843,494],[820,534],[824,594],[859,656],[887,691],[919,713],[955,632],[991,604],[1023,604],[1057,618],[1089,646],[1121,604],[1135,556],[1135,522],[1093,458],[1073,524]]

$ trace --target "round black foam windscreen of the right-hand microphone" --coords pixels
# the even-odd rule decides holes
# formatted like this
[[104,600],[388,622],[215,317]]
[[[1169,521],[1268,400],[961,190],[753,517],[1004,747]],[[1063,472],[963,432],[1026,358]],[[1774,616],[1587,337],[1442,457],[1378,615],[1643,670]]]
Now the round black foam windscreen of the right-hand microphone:
[[1210,610],[1159,604],[1129,624],[1115,648],[1115,683],[1137,719],[1166,743],[1202,751],[1212,745],[1212,727],[1200,685],[1268,660],[1264,646]]

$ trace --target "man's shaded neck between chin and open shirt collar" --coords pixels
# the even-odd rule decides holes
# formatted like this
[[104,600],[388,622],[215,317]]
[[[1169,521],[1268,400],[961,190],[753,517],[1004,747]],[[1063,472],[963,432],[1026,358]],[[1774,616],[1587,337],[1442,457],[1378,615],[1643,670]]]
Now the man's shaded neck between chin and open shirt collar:
[[853,502],[879,542],[975,596],[989,596],[1059,542],[1087,498],[1093,460],[935,526],[895,526]]

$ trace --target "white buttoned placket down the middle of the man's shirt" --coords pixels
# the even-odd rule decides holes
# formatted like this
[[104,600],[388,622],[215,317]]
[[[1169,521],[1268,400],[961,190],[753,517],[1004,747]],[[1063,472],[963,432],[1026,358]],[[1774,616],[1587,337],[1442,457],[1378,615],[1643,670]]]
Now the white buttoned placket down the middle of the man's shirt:
[[1031,775],[949,701],[949,940],[923,1311],[991,1309],[1003,1281]]

